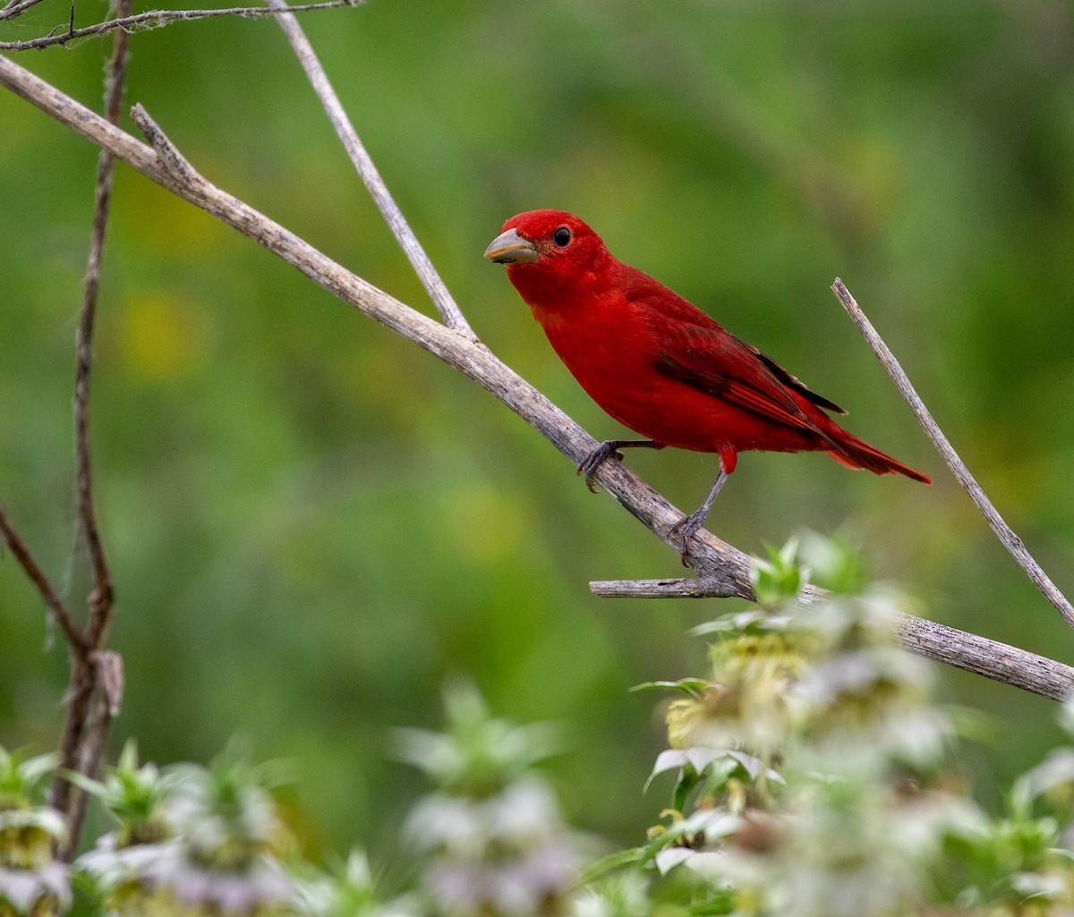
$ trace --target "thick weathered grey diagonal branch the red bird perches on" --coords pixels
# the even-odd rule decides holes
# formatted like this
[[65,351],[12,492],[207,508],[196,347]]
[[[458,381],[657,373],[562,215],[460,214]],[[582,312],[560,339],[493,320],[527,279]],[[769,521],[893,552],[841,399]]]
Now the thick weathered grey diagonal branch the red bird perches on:
[[[264,246],[343,302],[463,373],[537,430],[572,462],[581,461],[596,446],[593,437],[500,362],[480,341],[401,303],[332,261],[279,223],[213,186],[197,173],[137,106],[132,114],[151,139],[153,147],[134,140],[2,56],[0,85],[90,142],[108,149],[116,158],[151,180]],[[605,463],[595,478],[632,515],[678,553],[678,542],[669,539],[668,533],[683,518],[681,511],[622,463]],[[687,559],[705,582],[705,587],[711,590],[713,595],[754,600],[750,584],[750,558],[737,548],[701,529],[691,542]],[[1054,660],[1045,660],[1047,673],[1041,676],[1036,661],[1041,657],[1005,647],[986,638],[964,635],[954,628],[915,617],[906,618],[905,631],[905,645],[914,652],[1046,697],[1065,696],[1074,686],[1074,669]],[[989,658],[982,658],[982,646],[989,647]],[[1008,660],[1010,665],[1005,670],[993,664],[997,656]]]

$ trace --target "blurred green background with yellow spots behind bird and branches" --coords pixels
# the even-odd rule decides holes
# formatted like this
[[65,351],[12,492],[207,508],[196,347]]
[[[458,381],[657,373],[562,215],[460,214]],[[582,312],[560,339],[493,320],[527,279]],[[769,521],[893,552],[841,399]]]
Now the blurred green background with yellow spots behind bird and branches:
[[[79,23],[102,18],[84,0]],[[46,0],[5,40],[66,21]],[[1070,660],[1070,631],[991,537],[828,290],[844,278],[1061,587],[1074,553],[1074,12],[1047,0],[371,0],[303,24],[469,321],[597,438],[620,433],[481,252],[562,207],[852,412],[932,487],[823,455],[743,456],[710,526],[759,552],[859,543],[923,613]],[[111,43],[17,61],[99,107]],[[429,310],[282,34],[214,19],[137,34],[142,102],[212,180]],[[125,116],[125,127],[134,130]],[[0,499],[81,606],[73,337],[97,151],[0,93]],[[678,557],[492,397],[129,169],[116,179],[93,377],[101,523],[127,666],[113,748],[207,760],[234,733],[295,762],[313,855],[391,849],[417,776],[393,725],[446,675],[561,719],[571,819],[629,843],[656,698],[701,671],[724,605],[610,601],[591,579]],[[686,509],[715,462],[632,453]],[[0,743],[54,747],[66,653],[0,558]],[[939,672],[995,717],[997,782],[1059,740],[1050,702]]]

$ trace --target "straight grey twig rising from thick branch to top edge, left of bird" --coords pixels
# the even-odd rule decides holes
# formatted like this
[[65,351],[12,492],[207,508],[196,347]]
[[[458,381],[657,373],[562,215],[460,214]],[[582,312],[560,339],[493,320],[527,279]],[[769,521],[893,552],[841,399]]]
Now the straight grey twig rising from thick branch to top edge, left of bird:
[[321,104],[328,113],[332,127],[335,128],[339,140],[343,141],[350,161],[354,164],[354,169],[358,170],[359,176],[380,209],[384,221],[395,236],[395,241],[398,242],[403,252],[409,259],[410,265],[429,293],[429,297],[433,301],[433,305],[436,306],[440,318],[444,319],[444,323],[448,328],[455,329],[469,337],[475,337],[469,324],[463,317],[462,310],[448,291],[447,285],[433,266],[433,262],[425,253],[425,249],[418,242],[418,237],[413,234],[410,224],[403,216],[403,212],[400,210],[398,205],[392,198],[383,178],[380,177],[380,172],[374,164],[373,159],[366,152],[364,144],[358,136],[358,132],[350,122],[350,118],[347,117],[343,105],[339,103],[339,98],[332,88],[328,74],[324,72],[324,68],[321,67],[321,62],[318,60],[317,54],[314,52],[314,47],[310,45],[305,32],[303,32],[297,18],[286,12],[287,8],[282,0],[266,0],[266,2],[272,10],[280,13],[276,17],[276,21],[279,23],[299,61],[302,63],[303,70],[306,71],[306,76],[309,78],[317,98],[321,100]]

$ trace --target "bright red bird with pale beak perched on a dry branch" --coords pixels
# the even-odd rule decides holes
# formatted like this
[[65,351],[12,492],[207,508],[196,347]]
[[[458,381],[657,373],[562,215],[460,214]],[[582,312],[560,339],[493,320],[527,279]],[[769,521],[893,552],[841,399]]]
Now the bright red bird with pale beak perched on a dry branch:
[[529,305],[560,359],[601,408],[647,437],[609,439],[578,466],[593,472],[624,447],[673,446],[720,455],[705,503],[672,535],[685,552],[705,523],[738,453],[827,452],[847,468],[931,484],[843,430],[841,407],[806,388],[757,348],[724,331],[678,293],[623,264],[578,217],[531,210],[511,217],[484,257]]

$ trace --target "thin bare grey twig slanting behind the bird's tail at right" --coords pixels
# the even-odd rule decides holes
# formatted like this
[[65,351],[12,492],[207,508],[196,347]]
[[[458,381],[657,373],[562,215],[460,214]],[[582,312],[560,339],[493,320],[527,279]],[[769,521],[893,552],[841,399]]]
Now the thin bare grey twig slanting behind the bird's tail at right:
[[948,442],[947,437],[943,435],[943,431],[940,430],[932,414],[929,413],[929,409],[925,407],[925,403],[910,383],[910,379],[899,365],[899,361],[895,359],[895,354],[891,353],[884,339],[877,334],[876,329],[866,318],[865,312],[861,311],[861,307],[855,302],[854,296],[851,295],[843,281],[837,277],[836,282],[831,285],[831,289],[843,308],[846,309],[851,321],[857,325],[858,331],[861,332],[862,337],[865,337],[866,341],[872,348],[873,353],[876,354],[876,358],[884,365],[887,374],[899,390],[899,394],[906,399],[906,404],[910,405],[917,417],[926,436],[932,440],[937,452],[940,453],[947,467],[950,468],[955,479],[970,495],[970,499],[973,500],[974,506],[981,510],[981,514],[985,518],[996,537],[999,538],[1000,543],[1006,548],[1011,556],[1018,563],[1018,566],[1026,571],[1026,576],[1029,577],[1033,585],[1044,594],[1044,597],[1051,602],[1056,610],[1063,616],[1063,620],[1071,627],[1074,627],[1074,607],[1071,606],[1066,596],[1059,591],[1056,584],[1048,579],[1044,570],[1041,569],[1036,561],[1033,559],[1033,556],[1026,549],[1021,539],[1014,534],[1011,526],[999,514],[999,511],[992,506],[991,500],[988,499],[985,492],[981,489],[981,484],[970,474],[970,469],[958,457],[958,453],[952,447],[950,442]]

